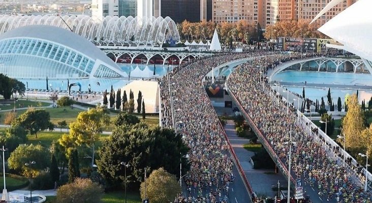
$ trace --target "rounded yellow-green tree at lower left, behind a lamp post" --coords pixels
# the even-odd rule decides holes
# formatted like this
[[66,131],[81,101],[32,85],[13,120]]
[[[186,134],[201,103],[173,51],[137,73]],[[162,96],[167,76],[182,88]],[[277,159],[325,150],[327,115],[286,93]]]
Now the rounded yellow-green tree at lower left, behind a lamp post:
[[[41,145],[19,145],[11,154],[8,159],[10,169],[21,172],[24,176],[35,177],[41,170],[50,165],[50,152],[47,148]],[[24,164],[30,160],[35,161],[36,164],[29,169]],[[31,170],[31,171],[30,171]]]

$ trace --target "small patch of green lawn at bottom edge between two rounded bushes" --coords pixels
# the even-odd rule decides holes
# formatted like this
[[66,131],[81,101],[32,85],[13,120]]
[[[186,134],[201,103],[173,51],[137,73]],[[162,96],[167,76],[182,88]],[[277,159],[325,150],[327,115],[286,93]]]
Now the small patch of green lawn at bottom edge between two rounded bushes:
[[[103,203],[122,203],[125,202],[124,191],[108,192],[103,195]],[[127,191],[127,203],[141,203],[139,193]]]

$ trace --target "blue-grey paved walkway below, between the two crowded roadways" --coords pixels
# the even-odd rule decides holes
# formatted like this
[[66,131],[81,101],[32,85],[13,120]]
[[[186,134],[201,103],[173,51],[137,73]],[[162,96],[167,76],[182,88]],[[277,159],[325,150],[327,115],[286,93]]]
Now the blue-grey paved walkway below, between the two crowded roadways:
[[249,140],[239,138],[236,135],[235,124],[233,121],[227,121],[224,129],[235,154],[239,159],[240,165],[244,170],[245,176],[250,182],[253,191],[256,192],[258,196],[275,196],[276,191],[273,191],[271,188],[277,186],[277,181],[280,181],[282,186],[287,187],[287,181],[282,174],[273,174],[273,170],[255,170],[253,168],[250,159],[255,155],[255,153],[243,148],[243,145],[249,143]]

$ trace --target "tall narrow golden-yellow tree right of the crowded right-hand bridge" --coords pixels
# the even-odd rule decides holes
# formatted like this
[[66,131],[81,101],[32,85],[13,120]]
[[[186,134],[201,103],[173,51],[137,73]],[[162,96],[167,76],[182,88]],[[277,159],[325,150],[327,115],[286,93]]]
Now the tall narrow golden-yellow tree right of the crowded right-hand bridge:
[[346,147],[358,149],[363,146],[361,131],[364,126],[364,114],[361,111],[356,94],[348,97],[348,112],[343,120],[343,131],[346,137]]

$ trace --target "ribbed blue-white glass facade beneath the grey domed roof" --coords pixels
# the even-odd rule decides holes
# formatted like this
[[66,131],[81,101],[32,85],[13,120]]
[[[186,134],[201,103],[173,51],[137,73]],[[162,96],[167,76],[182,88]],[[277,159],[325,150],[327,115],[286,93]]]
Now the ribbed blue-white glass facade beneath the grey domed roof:
[[[0,41],[0,73],[13,78],[88,78],[92,59],[60,44],[32,38]],[[101,68],[98,77],[119,77]],[[107,70],[108,67],[106,67]]]

